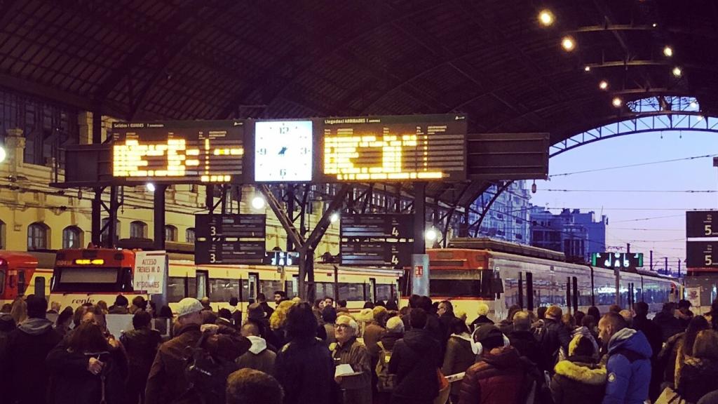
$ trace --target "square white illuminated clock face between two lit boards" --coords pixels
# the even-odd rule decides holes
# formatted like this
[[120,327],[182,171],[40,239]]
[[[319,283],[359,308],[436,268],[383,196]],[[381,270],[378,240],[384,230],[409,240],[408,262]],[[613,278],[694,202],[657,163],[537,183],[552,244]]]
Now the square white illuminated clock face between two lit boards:
[[312,121],[256,122],[254,180],[312,180]]

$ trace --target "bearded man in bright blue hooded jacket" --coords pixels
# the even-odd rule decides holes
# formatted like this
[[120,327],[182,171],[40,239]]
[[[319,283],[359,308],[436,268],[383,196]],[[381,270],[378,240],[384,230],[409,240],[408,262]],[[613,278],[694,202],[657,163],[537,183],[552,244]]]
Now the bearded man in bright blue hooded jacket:
[[603,404],[643,404],[651,384],[651,344],[642,332],[629,329],[616,313],[605,314],[598,329],[608,348]]

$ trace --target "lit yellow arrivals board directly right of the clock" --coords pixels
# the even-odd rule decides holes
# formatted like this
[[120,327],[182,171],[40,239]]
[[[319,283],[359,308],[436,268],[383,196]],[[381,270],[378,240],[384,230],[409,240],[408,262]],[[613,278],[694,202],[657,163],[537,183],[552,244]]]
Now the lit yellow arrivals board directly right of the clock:
[[327,118],[322,151],[327,181],[464,180],[466,117]]

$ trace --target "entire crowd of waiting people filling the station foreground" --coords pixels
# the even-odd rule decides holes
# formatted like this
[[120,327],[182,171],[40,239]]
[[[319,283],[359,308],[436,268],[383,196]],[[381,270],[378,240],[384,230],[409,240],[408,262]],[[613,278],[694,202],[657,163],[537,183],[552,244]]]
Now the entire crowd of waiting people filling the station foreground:
[[[122,295],[63,310],[19,298],[0,314],[2,403],[718,403],[718,300],[707,316],[681,300],[653,319],[636,303],[513,306],[500,321],[485,304],[469,319],[418,295],[358,313],[281,291],[244,316],[228,303],[185,298],[172,313]],[[134,329],[111,335],[107,314],[131,315]]]

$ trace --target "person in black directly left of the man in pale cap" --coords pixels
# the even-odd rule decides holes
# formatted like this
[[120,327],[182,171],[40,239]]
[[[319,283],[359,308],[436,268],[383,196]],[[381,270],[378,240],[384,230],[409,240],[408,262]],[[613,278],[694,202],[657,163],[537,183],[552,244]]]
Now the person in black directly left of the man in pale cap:
[[132,318],[134,330],[123,334],[120,342],[129,359],[127,398],[130,403],[144,403],[144,389],[157,348],[162,343],[159,331],[149,328],[152,317],[146,311],[137,311]]

